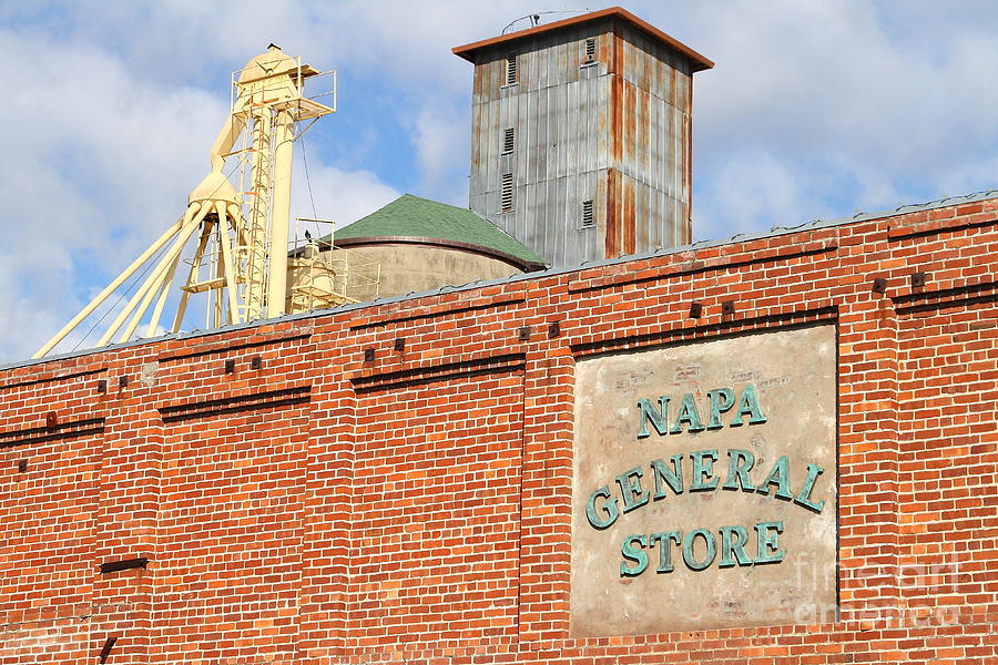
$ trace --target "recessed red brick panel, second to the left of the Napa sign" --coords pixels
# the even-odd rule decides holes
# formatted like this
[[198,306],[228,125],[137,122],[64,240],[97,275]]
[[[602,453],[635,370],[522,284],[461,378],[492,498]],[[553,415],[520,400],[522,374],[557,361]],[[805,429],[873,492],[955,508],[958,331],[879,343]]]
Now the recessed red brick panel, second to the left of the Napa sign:
[[305,405],[170,422],[151,659],[228,652],[291,661],[302,585]]

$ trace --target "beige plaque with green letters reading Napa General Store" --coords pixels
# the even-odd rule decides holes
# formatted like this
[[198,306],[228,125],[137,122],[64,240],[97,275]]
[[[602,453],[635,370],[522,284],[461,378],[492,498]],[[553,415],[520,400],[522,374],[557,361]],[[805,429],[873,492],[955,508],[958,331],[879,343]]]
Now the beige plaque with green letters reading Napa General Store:
[[834,620],[835,431],[833,325],[580,361],[573,635]]

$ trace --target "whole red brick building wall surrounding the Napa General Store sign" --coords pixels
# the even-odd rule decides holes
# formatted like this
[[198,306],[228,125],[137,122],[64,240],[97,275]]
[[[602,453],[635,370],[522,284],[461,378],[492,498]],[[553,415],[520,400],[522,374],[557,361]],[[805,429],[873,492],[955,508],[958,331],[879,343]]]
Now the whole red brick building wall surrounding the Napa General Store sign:
[[[988,200],[2,370],[0,663],[95,663],[109,637],[115,665],[998,662],[996,219]],[[576,360],[819,320],[839,621],[570,637]]]

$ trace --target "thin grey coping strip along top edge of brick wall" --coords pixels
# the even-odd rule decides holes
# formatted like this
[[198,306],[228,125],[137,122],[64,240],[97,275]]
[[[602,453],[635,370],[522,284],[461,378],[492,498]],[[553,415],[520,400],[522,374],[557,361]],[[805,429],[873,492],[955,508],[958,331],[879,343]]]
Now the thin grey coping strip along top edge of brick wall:
[[630,263],[634,260],[642,260],[648,258],[654,258],[659,256],[669,256],[671,254],[681,254],[684,252],[695,252],[697,249],[707,249],[711,247],[722,247],[725,245],[733,245],[736,243],[750,243],[753,241],[761,241],[766,238],[774,238],[784,235],[791,235],[795,233],[802,233],[806,231],[815,231],[822,228],[832,228],[836,226],[845,226],[848,224],[856,224],[859,222],[868,222],[872,219],[885,219],[889,217],[896,217],[900,215],[908,215],[912,213],[918,213],[923,211],[931,211],[936,208],[950,207],[956,205],[964,205],[967,203],[977,203],[980,201],[988,201],[991,198],[998,198],[998,190],[985,190],[981,192],[974,192],[971,194],[965,194],[960,196],[947,196],[945,198],[939,198],[937,201],[929,201],[926,203],[915,203],[915,204],[904,204],[899,205],[894,209],[888,211],[879,211],[873,213],[856,213],[855,215],[848,217],[835,217],[832,219],[813,219],[811,222],[804,222],[796,226],[773,226],[768,232],[758,232],[758,233],[747,233],[747,234],[735,234],[733,236],[726,238],[719,238],[713,241],[695,241],[689,245],[682,245],[680,247],[666,247],[655,249],[653,252],[642,252],[640,254],[627,254],[621,255],[614,258],[605,258],[601,260],[592,260],[592,262],[583,262],[579,265],[573,266],[557,266],[553,268],[547,268],[544,270],[538,270],[534,273],[521,273],[517,275],[511,275],[509,277],[502,277],[499,279],[482,279],[477,282],[470,282],[468,284],[462,284],[458,286],[441,286],[436,289],[418,291],[418,293],[409,293],[404,296],[393,296],[388,298],[375,298],[374,300],[368,300],[365,303],[355,303],[340,305],[338,307],[334,307],[332,309],[313,309],[309,311],[303,311],[301,314],[289,314],[286,316],[277,317],[277,318],[268,318],[268,319],[258,319],[255,321],[249,321],[246,324],[237,324],[232,326],[223,326],[221,328],[212,328],[211,330],[187,330],[180,332],[172,332],[170,335],[161,335],[160,337],[144,337],[142,339],[134,339],[131,341],[123,341],[119,344],[111,344],[102,347],[89,348],[89,349],[80,349],[75,351],[70,351],[67,354],[59,354],[54,356],[45,356],[43,358],[33,358],[28,360],[20,360],[17,362],[11,362],[8,365],[0,365],[0,371],[17,369],[20,367],[29,367],[32,365],[41,365],[44,362],[52,362],[58,360],[65,360],[69,358],[77,358],[82,356],[89,356],[91,354],[99,354],[111,351],[115,349],[123,349],[133,346],[144,345],[144,344],[153,344],[159,341],[165,341],[170,339],[192,339],[196,337],[207,337],[211,335],[224,335],[227,332],[234,332],[238,330],[246,330],[258,328],[261,326],[271,326],[275,324],[294,321],[294,320],[303,320],[310,318],[318,318],[324,316],[329,316],[334,314],[340,314],[344,311],[355,311],[358,309],[365,309],[367,307],[377,307],[383,305],[388,305],[393,303],[401,303],[405,300],[414,300],[417,298],[422,298],[427,296],[436,296],[442,294],[450,294],[464,290],[471,290],[476,288],[482,288],[488,286],[501,286],[503,284],[512,284],[517,282],[525,282],[530,279],[539,279],[542,277],[550,277],[556,275],[564,275],[568,273],[577,273],[580,270],[588,270],[591,268],[599,268],[603,266],[613,266],[624,263]]

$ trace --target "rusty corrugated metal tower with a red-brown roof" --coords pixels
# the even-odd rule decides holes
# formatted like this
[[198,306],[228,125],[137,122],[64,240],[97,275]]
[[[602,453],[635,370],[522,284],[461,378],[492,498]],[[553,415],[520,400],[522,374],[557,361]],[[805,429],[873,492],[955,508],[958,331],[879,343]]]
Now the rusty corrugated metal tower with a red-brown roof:
[[454,52],[475,64],[471,209],[556,266],[692,239],[710,60],[619,7]]

